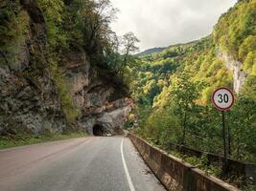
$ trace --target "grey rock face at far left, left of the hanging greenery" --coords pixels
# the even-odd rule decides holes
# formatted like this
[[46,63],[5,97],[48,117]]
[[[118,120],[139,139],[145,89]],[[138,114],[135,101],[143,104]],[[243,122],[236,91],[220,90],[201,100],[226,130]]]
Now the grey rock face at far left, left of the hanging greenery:
[[[65,128],[54,84],[41,59],[36,68],[33,60],[46,48],[46,25],[35,1],[21,1],[29,22],[29,32],[15,44],[17,53],[10,61],[0,64],[0,133],[33,134],[61,132]],[[35,69],[36,68],[36,69]]]

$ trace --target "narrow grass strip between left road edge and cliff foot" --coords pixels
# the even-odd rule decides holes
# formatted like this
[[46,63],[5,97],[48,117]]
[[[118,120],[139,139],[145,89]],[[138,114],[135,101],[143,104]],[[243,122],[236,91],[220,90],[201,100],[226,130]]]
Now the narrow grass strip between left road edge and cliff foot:
[[68,138],[82,138],[86,137],[87,134],[83,131],[69,133],[69,134],[52,134],[52,135],[41,135],[41,136],[25,136],[19,135],[15,137],[0,137],[0,150],[8,149],[17,146],[25,146],[30,144],[48,142],[48,141],[56,141]]

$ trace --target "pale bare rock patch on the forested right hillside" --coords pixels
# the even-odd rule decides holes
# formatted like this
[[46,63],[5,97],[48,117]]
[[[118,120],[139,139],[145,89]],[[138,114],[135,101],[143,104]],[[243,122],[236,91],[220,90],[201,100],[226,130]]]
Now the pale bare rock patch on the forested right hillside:
[[246,81],[246,76],[242,70],[243,64],[240,61],[237,61],[232,58],[232,56],[227,55],[221,51],[218,51],[218,57],[224,60],[226,63],[226,67],[228,70],[232,71],[233,73],[233,81],[234,81],[234,91],[236,94],[239,94]]

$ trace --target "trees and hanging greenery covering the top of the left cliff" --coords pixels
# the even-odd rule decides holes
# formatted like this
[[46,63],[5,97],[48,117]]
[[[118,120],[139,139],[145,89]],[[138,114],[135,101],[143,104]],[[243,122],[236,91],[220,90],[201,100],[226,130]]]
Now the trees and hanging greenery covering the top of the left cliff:
[[73,123],[81,109],[74,103],[66,77],[70,50],[83,52],[84,63],[125,86],[123,78],[128,76],[127,66],[133,62],[130,53],[137,49],[138,39],[132,32],[118,37],[111,31],[116,12],[110,0],[1,1],[0,67],[25,77],[38,92],[43,92],[41,79],[50,77],[63,116]]

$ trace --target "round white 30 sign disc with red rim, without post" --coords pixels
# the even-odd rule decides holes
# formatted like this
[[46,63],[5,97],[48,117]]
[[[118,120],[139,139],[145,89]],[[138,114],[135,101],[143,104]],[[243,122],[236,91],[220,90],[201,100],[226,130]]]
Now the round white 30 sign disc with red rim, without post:
[[219,88],[212,95],[214,106],[221,111],[229,110],[234,104],[234,95],[227,88]]

